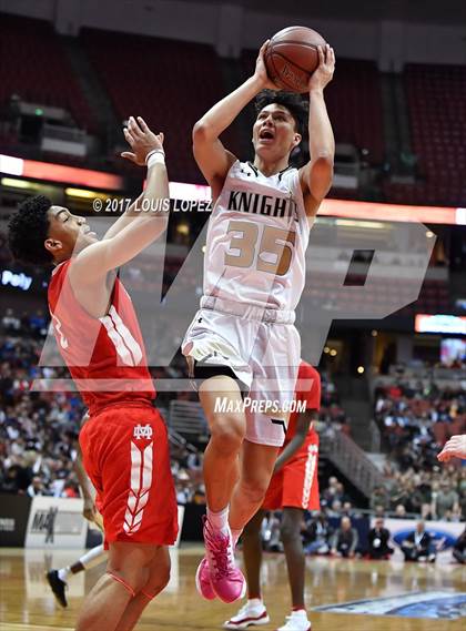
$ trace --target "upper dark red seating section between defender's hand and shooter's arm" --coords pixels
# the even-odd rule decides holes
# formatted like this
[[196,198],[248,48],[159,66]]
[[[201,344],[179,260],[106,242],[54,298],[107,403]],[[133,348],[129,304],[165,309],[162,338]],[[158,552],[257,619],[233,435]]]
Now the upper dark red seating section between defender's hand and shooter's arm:
[[203,182],[192,157],[194,122],[223,95],[209,45],[85,29],[82,44],[118,116],[145,118],[165,132],[171,180]]

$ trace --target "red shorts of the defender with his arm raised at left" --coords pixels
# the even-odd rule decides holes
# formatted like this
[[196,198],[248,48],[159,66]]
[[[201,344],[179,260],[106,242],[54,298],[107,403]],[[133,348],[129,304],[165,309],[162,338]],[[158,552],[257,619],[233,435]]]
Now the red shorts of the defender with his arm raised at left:
[[112,541],[174,543],[178,507],[165,425],[143,405],[109,406],[80,432],[84,468]]

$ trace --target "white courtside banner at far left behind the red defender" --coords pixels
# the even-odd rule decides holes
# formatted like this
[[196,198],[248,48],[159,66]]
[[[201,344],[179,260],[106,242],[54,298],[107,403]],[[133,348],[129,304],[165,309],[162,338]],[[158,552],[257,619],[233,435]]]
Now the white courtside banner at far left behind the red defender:
[[26,535],[27,548],[84,548],[88,522],[83,500],[34,497]]

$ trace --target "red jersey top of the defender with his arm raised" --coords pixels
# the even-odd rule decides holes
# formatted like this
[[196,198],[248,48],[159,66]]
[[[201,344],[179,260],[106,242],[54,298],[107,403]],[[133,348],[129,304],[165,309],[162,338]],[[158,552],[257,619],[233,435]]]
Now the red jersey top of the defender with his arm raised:
[[155,389],[126,289],[115,278],[107,315],[94,318],[74,296],[70,263],[53,269],[49,309],[58,347],[90,414],[109,404],[150,403]]

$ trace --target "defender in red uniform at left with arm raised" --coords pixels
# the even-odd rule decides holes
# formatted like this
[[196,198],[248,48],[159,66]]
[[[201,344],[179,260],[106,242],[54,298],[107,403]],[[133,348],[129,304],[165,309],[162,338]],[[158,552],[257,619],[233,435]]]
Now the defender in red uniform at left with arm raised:
[[[168,583],[166,546],[176,538],[176,501],[166,429],[131,298],[116,269],[168,225],[163,134],[142,119],[124,130],[124,157],[148,164],[146,189],[98,241],[84,217],[44,196],[23,202],[9,224],[13,255],[52,264],[49,285],[58,347],[90,420],[80,432],[84,468],[102,511],[109,562],[88,594],[77,631],[129,631]],[[145,202],[145,204],[144,204]]]

